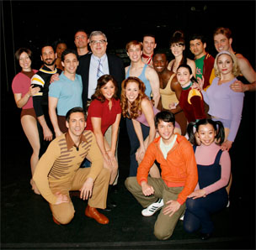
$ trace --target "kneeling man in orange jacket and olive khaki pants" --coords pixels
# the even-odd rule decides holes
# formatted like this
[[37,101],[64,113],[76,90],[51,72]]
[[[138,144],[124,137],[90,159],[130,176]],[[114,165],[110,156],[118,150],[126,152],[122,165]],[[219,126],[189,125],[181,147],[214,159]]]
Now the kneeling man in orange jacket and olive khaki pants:
[[[173,133],[174,125],[173,113],[157,113],[155,126],[160,137],[147,147],[136,177],[125,180],[126,188],[141,206],[147,207],[157,199],[163,199],[163,208],[154,228],[159,240],[172,236],[179,217],[184,213],[187,196],[195,190],[198,180],[193,148],[184,136]],[[160,164],[161,178],[148,177],[155,160]],[[144,212],[142,214],[145,216]]]

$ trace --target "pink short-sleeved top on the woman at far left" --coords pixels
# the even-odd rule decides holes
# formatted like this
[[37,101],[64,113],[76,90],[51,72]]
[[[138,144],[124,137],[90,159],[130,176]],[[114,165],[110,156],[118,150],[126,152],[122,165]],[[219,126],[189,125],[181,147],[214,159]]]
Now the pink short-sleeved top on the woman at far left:
[[[33,71],[34,73],[37,72],[37,70],[33,70]],[[29,91],[30,84],[31,84],[31,80],[29,76],[26,76],[24,75],[24,73],[19,72],[13,78],[13,83],[12,83],[13,94],[21,93],[21,97],[23,97]],[[22,108],[23,109],[33,108],[32,96],[29,97],[29,101]]]

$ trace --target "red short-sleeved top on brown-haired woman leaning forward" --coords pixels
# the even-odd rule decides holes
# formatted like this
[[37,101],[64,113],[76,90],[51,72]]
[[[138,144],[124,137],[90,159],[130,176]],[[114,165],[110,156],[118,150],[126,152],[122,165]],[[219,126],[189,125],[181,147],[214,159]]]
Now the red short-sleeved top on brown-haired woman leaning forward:
[[86,130],[93,131],[93,124],[91,117],[99,117],[101,118],[101,132],[104,133],[107,131],[110,125],[115,123],[116,115],[121,113],[120,100],[112,100],[112,108],[109,110],[109,101],[105,100],[105,102],[100,102],[95,99],[91,102],[88,107],[88,117],[87,117],[87,126]]

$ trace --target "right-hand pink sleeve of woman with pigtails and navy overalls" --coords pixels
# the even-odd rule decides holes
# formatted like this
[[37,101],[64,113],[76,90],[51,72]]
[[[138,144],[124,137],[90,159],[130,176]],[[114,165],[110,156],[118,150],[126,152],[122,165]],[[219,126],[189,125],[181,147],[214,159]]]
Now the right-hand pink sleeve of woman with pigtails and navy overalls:
[[230,173],[231,173],[231,160],[227,151],[223,151],[220,159],[221,164],[221,179],[217,180],[215,183],[208,185],[204,188],[206,195],[220,190],[222,187],[228,184]]

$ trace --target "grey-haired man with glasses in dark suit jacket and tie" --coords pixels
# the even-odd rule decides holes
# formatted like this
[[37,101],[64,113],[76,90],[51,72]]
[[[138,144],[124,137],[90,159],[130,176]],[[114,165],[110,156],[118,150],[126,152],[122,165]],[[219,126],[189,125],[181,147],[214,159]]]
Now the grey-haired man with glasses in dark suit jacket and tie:
[[122,60],[111,54],[106,54],[107,37],[101,31],[93,31],[88,39],[92,54],[79,59],[77,74],[82,76],[83,81],[83,108],[87,108],[87,102],[91,99],[97,86],[99,60],[102,64],[101,75],[109,74],[118,82],[119,93],[121,83],[125,79],[125,68]]

